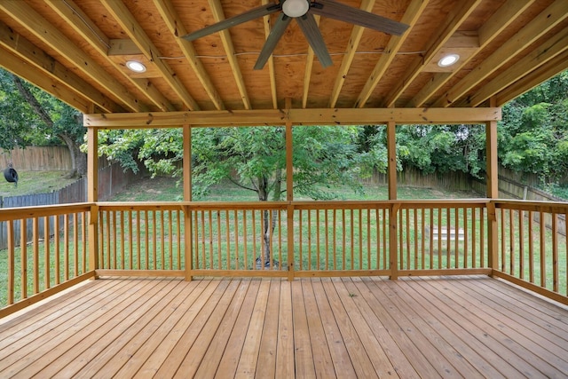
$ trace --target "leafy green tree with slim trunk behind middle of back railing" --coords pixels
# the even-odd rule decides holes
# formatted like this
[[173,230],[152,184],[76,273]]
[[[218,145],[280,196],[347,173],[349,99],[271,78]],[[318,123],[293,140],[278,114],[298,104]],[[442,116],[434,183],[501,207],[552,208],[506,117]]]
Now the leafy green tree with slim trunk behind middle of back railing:
[[[367,133],[372,136],[373,133]],[[283,127],[196,128],[192,131],[193,194],[229,182],[256,193],[259,201],[280,201],[286,193],[286,135]],[[293,139],[294,193],[314,200],[335,197],[332,188],[349,186],[361,192],[361,178],[387,167],[386,147],[376,141],[361,144],[365,128],[295,126]],[[106,130],[99,133],[99,153],[138,170],[138,155],[154,174],[181,176],[181,130]],[[270,262],[270,236],[276,213],[264,213],[264,257]]]

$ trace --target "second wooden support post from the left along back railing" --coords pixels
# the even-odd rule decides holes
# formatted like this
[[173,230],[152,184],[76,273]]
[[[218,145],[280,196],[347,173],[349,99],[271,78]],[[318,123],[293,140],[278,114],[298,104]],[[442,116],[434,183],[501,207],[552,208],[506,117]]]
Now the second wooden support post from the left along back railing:
[[[184,201],[192,201],[192,129],[184,125]],[[184,207],[185,218],[185,280],[192,280],[193,271],[193,223],[191,207]]]

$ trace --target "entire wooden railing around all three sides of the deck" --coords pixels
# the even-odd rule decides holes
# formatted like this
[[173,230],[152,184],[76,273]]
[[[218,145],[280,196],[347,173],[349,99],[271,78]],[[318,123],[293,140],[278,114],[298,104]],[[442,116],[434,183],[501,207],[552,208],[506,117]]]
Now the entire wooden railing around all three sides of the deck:
[[13,312],[96,275],[493,274],[568,303],[567,213],[485,199],[2,209],[0,301]]

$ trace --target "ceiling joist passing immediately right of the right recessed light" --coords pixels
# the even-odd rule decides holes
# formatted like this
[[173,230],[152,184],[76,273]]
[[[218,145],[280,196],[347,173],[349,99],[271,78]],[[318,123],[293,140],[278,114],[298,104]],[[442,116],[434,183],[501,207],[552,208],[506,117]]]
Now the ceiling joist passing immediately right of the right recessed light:
[[[499,36],[499,34],[509,25],[517,20],[517,17],[525,12],[536,0],[509,0],[501,8],[494,12],[493,15],[479,28],[477,35],[479,36],[479,50],[482,51],[489,43]],[[460,59],[454,70],[450,73],[438,73],[426,84],[421,91],[414,96],[406,107],[422,107],[434,94],[442,88],[454,75],[465,67],[469,60],[473,59],[475,54],[469,58]]]

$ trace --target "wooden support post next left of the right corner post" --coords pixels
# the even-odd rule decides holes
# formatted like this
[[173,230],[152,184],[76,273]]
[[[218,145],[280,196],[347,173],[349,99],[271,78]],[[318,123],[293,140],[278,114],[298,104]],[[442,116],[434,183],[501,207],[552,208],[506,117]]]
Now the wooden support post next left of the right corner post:
[[[397,125],[395,122],[387,122],[387,154],[389,157],[388,180],[389,200],[397,200]],[[398,279],[398,209],[399,203],[390,207],[389,214],[389,262],[390,279]]]

